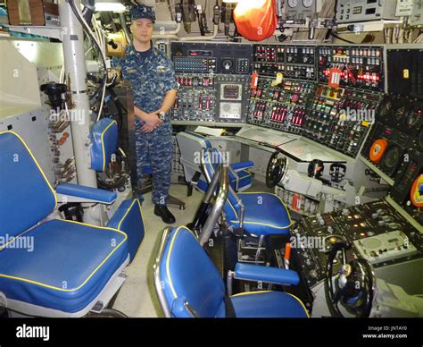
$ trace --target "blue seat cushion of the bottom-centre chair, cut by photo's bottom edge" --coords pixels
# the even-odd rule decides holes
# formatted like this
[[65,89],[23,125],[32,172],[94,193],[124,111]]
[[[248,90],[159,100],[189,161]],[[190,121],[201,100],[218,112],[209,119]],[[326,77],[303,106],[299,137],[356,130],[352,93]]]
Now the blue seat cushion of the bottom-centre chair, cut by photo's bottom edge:
[[303,302],[286,292],[248,292],[230,300],[236,317],[309,317]]

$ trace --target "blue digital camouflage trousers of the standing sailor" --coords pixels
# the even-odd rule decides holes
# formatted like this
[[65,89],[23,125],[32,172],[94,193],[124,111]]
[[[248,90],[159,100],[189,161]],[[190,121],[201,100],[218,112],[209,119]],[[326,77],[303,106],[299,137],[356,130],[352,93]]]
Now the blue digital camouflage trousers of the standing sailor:
[[[163,123],[152,132],[142,132],[136,127],[137,176],[153,175],[153,204],[165,206],[169,198],[172,170],[172,132],[170,124]],[[151,172],[149,172],[149,170]]]

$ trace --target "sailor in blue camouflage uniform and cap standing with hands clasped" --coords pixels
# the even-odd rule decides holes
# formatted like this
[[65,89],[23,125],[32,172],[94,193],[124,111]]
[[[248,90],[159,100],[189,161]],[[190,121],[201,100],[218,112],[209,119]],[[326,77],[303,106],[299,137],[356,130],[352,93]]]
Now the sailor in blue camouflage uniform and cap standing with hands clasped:
[[175,217],[166,207],[173,153],[169,110],[175,102],[178,84],[170,60],[153,47],[153,9],[137,5],[130,15],[133,44],[127,48],[120,68],[123,79],[129,80],[134,92],[137,175],[141,177],[149,158],[154,214],[161,216],[164,223],[172,224]]

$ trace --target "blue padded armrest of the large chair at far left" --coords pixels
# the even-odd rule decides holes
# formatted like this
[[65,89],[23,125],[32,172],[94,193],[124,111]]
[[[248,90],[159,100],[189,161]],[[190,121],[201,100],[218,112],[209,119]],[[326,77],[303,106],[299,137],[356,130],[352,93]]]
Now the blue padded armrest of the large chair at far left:
[[[56,192],[65,197],[70,197],[69,201],[75,201],[79,198],[80,202],[96,201],[103,204],[112,204],[116,200],[116,192],[101,190],[84,185],[73,183],[60,183],[56,186]],[[60,201],[60,199],[58,199]]]

